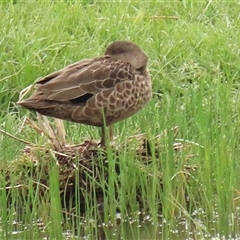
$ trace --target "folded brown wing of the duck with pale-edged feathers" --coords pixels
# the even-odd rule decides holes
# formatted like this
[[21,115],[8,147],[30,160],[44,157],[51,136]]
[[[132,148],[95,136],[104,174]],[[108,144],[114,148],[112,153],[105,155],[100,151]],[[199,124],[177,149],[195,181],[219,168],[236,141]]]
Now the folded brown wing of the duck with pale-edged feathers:
[[114,88],[119,82],[133,77],[133,68],[128,63],[104,56],[74,63],[47,75],[36,84],[37,92],[45,100],[72,101]]

